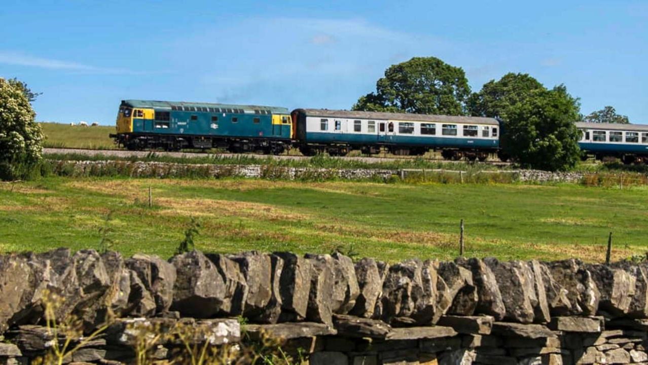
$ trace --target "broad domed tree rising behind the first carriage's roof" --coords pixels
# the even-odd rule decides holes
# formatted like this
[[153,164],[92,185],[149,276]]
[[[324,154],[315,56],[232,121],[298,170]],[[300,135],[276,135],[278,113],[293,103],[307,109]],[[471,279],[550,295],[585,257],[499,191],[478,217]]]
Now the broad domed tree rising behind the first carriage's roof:
[[465,115],[470,86],[461,67],[435,57],[414,57],[391,65],[376,92],[358,99],[353,110]]

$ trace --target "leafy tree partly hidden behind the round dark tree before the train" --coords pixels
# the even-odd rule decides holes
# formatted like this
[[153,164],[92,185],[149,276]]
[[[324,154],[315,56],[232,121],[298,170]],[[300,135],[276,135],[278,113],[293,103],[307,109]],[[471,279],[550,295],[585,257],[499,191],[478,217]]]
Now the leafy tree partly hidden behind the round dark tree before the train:
[[468,110],[475,117],[505,120],[512,106],[537,90],[546,88],[528,74],[507,73],[498,81],[487,82],[478,93],[470,95]]

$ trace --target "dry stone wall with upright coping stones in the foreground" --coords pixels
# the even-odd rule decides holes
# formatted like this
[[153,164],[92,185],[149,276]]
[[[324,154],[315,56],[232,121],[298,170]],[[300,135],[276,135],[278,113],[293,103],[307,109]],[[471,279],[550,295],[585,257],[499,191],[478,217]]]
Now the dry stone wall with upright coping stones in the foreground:
[[[63,299],[56,318],[82,327],[66,363],[135,364],[138,331],[183,325],[191,344],[281,338],[310,364],[648,364],[647,270],[339,253],[0,255],[0,364],[29,364],[65,340],[44,322],[51,293]],[[160,364],[182,349],[156,341]]]

